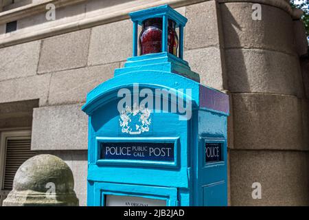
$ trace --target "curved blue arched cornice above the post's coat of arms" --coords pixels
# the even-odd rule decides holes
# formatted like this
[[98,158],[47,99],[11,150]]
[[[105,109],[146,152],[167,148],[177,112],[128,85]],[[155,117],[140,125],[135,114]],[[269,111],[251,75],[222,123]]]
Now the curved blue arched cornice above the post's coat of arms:
[[115,76],[95,87],[87,94],[87,102],[82,106],[82,111],[91,115],[98,107],[116,98],[119,89],[132,88],[134,85],[150,89],[191,89],[192,96],[183,94],[183,99],[190,100],[192,107],[198,105],[199,83],[170,72],[143,70]]

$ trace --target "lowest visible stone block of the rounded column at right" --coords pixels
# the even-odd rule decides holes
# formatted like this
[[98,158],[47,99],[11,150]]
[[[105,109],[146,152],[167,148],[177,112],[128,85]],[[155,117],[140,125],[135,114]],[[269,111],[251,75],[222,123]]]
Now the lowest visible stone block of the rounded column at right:
[[[232,206],[308,206],[308,153],[230,151]],[[253,199],[252,184],[261,184]]]

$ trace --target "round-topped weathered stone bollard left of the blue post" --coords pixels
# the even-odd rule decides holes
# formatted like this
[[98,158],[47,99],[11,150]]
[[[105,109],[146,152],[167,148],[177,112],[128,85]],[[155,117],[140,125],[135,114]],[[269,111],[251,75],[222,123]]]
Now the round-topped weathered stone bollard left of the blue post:
[[36,155],[17,170],[3,206],[78,206],[73,173],[54,155]]

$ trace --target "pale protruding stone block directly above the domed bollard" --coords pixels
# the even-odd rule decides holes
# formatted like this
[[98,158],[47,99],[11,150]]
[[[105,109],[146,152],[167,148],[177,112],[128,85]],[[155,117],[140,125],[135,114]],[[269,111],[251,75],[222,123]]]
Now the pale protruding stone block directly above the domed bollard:
[[87,149],[88,118],[81,104],[34,109],[32,150]]

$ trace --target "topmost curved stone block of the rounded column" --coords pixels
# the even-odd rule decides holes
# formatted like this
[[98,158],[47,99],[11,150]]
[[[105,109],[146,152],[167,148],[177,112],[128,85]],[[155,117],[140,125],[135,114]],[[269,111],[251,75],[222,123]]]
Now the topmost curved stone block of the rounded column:
[[252,5],[252,2],[220,4],[225,47],[260,48],[295,54],[290,14],[261,4],[262,19],[253,20]]

